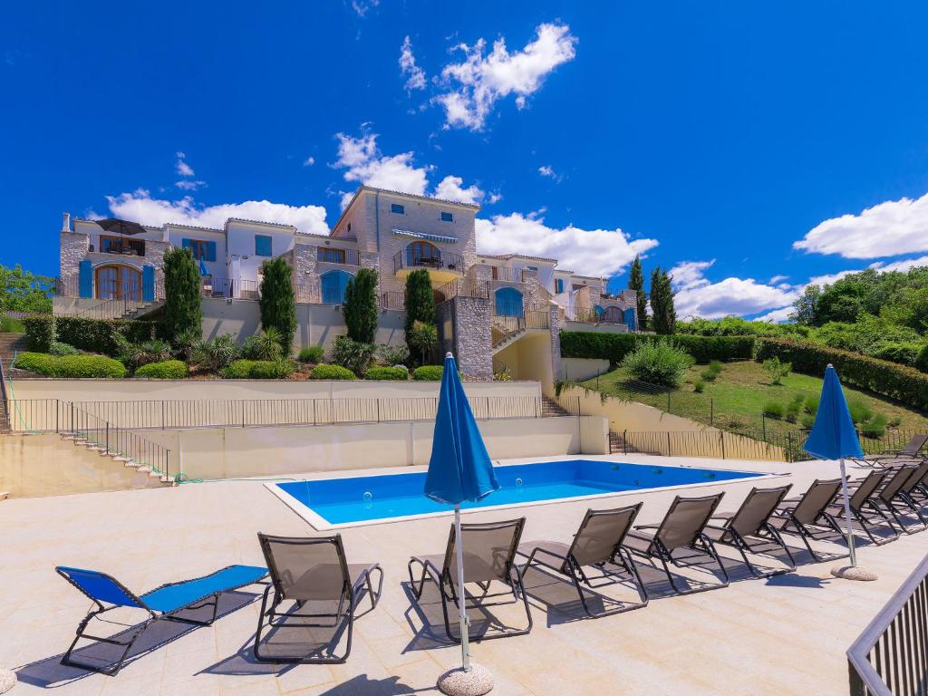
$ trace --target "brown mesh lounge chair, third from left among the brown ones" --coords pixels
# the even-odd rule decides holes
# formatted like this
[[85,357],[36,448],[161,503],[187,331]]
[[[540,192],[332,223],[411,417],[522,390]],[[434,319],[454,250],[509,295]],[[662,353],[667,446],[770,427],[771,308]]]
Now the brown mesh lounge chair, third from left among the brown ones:
[[[641,505],[638,503],[638,505],[627,508],[586,510],[586,515],[580,522],[580,527],[570,544],[560,541],[533,541],[522,544],[519,554],[528,559],[522,566],[522,574],[524,575],[535,564],[567,575],[580,596],[580,603],[586,615],[590,618],[609,616],[613,613],[628,612],[647,606],[648,594],[641,583],[638,568],[628,549],[622,546],[625,535],[632,528],[632,523],[635,522]],[[624,571],[625,577],[616,574],[608,568],[608,565]],[[591,567],[595,567],[599,572],[593,577],[590,577],[588,570],[584,571],[584,568]],[[631,579],[635,583],[639,596],[644,598],[643,601],[625,603],[604,612],[590,610],[581,583],[595,590],[599,587],[614,585],[625,579]]]

